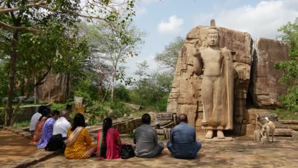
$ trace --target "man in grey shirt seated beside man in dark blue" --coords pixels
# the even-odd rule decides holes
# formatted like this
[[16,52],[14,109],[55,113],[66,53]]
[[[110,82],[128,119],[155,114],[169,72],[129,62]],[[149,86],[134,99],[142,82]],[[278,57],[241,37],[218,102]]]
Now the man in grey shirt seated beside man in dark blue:
[[133,143],[136,144],[135,154],[140,158],[153,158],[164,150],[162,142],[157,143],[157,132],[150,126],[151,117],[148,113],[142,116],[142,126],[133,134]]

